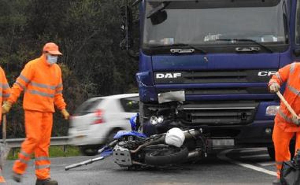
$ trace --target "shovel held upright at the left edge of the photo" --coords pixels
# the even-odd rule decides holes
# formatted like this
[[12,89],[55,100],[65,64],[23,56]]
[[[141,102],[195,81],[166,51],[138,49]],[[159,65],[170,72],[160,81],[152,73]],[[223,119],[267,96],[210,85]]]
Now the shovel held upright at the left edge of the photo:
[[0,169],[1,170],[4,167],[4,163],[10,151],[10,147],[7,145],[6,142],[6,115],[5,114],[3,115],[2,137],[3,137],[3,142],[0,143]]

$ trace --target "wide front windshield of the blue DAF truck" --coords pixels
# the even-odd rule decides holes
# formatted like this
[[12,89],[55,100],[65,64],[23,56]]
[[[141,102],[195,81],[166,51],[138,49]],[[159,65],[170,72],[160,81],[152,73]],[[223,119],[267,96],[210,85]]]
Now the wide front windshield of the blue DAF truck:
[[147,47],[287,42],[283,0],[146,0],[144,6]]

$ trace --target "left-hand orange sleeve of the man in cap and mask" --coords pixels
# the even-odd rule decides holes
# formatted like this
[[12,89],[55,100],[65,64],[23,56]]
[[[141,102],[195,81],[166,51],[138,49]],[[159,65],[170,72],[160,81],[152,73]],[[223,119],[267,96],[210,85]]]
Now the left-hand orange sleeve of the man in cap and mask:
[[15,103],[19,98],[22,91],[27,87],[29,82],[32,80],[34,75],[34,68],[31,63],[27,63],[22,70],[20,76],[17,78],[16,82],[13,84],[11,88],[11,95],[7,99],[11,104]]

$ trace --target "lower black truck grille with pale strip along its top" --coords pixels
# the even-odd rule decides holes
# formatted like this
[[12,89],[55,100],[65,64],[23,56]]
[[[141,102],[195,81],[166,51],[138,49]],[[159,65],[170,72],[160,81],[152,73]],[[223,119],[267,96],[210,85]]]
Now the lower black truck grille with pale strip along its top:
[[182,107],[187,124],[248,124],[254,120],[259,103],[187,104]]

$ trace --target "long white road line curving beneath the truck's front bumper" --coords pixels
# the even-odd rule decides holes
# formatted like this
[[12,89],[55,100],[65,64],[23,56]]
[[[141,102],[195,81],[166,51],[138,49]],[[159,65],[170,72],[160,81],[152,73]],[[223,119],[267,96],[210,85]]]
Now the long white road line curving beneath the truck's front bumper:
[[250,165],[250,164],[247,164],[247,163],[241,163],[241,162],[238,162],[238,161],[235,161],[235,160],[232,160],[232,159],[229,159],[226,154],[228,154],[229,152],[233,151],[234,149],[229,149],[229,150],[224,150],[222,152],[220,152],[218,154],[218,158],[221,159],[221,160],[225,160],[225,161],[228,161],[230,163],[233,163],[233,164],[236,164],[238,166],[242,166],[242,167],[245,167],[245,168],[248,168],[248,169],[252,169],[252,170],[256,170],[258,172],[262,172],[262,173],[266,173],[268,175],[273,175],[275,177],[277,177],[277,173],[276,172],[273,172],[271,170],[267,170],[267,169],[263,169],[263,168],[260,168],[258,166],[254,166],[254,165]]

